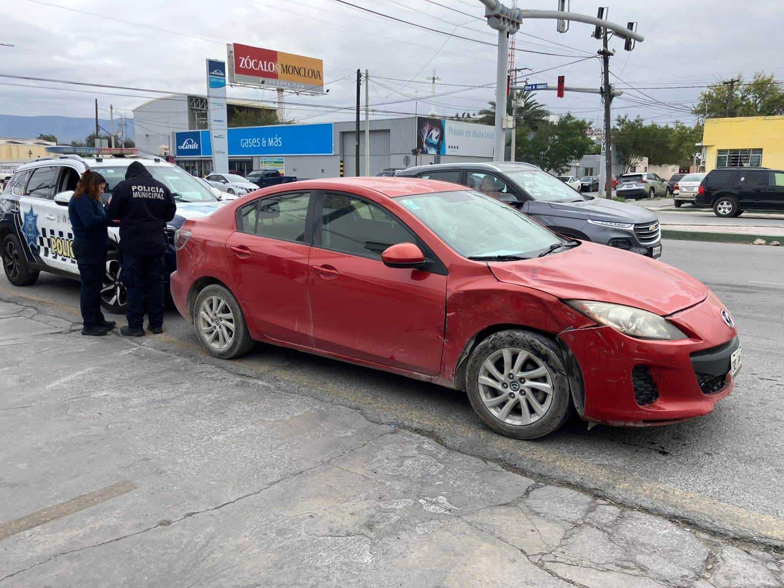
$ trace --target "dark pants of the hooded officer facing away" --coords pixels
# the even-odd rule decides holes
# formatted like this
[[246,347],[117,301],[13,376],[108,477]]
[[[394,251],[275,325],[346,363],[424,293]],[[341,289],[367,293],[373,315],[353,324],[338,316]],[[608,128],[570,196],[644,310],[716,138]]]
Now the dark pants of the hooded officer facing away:
[[145,303],[151,327],[163,326],[163,256],[122,254],[122,283],[128,291],[128,326],[144,327]]

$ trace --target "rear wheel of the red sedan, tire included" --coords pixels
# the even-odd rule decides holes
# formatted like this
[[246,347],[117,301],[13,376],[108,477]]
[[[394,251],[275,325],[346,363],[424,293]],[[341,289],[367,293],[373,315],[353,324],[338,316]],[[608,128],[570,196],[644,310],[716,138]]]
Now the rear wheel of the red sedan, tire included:
[[193,316],[196,336],[210,355],[231,359],[252,349],[245,315],[234,295],[222,285],[212,284],[199,292]]

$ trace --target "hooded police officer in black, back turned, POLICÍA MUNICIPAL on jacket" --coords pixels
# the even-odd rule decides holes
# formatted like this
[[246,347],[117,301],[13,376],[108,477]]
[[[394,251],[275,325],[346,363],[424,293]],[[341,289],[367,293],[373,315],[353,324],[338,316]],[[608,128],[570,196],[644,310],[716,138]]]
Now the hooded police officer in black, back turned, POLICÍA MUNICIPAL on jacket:
[[163,332],[164,230],[176,209],[169,188],[141,162],[132,162],[125,181],[114,187],[108,216],[120,221],[121,277],[128,291],[128,326],[120,329],[124,336],[144,335],[145,299],[147,328],[156,335]]

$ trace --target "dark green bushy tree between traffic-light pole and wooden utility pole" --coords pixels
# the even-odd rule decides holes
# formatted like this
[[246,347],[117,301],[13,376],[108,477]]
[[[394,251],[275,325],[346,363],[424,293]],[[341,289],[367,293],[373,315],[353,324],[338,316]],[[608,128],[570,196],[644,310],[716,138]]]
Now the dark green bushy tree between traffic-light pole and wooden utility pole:
[[563,173],[590,149],[593,142],[586,134],[589,128],[590,122],[572,114],[565,114],[558,122],[541,121],[536,130],[518,127],[516,159]]

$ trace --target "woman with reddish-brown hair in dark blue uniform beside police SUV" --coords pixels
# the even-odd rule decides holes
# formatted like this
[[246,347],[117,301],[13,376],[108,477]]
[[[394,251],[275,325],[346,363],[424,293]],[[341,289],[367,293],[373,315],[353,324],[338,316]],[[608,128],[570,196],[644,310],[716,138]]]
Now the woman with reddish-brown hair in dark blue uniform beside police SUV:
[[82,278],[82,335],[101,336],[116,324],[107,321],[100,310],[100,291],[106,273],[109,218],[100,199],[106,180],[89,169],[82,174],[68,203],[68,216],[74,230],[74,257]]

